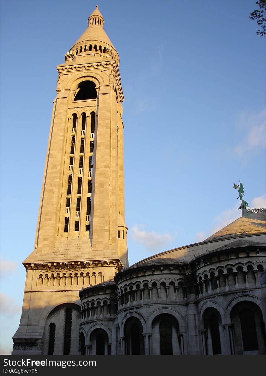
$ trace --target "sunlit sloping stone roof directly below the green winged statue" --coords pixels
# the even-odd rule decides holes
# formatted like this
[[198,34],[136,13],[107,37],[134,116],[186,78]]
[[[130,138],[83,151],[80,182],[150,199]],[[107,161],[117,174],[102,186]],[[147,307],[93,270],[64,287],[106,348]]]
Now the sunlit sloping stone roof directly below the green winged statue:
[[254,209],[260,210],[260,212],[251,212],[243,217],[238,218],[232,223],[225,226],[223,229],[214,233],[212,236],[204,241],[213,240],[216,238],[227,238],[232,235],[247,234],[251,235],[254,233],[266,233],[266,209],[265,212],[261,212],[264,209]]

